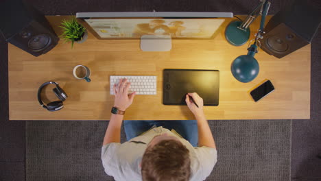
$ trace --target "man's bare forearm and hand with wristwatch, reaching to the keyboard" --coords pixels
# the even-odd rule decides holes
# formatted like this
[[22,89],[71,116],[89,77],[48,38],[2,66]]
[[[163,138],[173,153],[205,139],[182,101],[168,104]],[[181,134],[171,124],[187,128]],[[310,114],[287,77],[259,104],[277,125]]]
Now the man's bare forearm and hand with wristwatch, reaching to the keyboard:
[[[127,84],[126,84],[127,83]],[[128,95],[130,82],[126,79],[119,80],[119,84],[114,85],[115,104],[114,107],[125,111],[134,100],[135,93]],[[108,143],[120,143],[121,123],[123,122],[123,115],[112,114],[106,130],[103,145]]]

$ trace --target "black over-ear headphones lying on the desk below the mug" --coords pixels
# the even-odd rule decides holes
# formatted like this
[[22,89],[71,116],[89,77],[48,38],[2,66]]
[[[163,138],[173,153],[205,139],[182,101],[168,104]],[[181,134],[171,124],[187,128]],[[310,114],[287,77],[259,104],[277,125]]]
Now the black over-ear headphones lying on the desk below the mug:
[[[49,84],[56,85],[56,88],[53,88],[53,93],[60,99],[60,101],[52,101],[49,102],[47,105],[43,103],[43,100],[41,99],[41,91],[43,88]],[[43,106],[43,108],[49,110],[49,111],[56,111],[60,110],[64,107],[62,104],[62,101],[65,101],[67,99],[68,95],[62,90],[62,88],[56,83],[56,82],[45,82],[43,85],[41,85],[38,89],[38,101],[40,103],[40,106]]]

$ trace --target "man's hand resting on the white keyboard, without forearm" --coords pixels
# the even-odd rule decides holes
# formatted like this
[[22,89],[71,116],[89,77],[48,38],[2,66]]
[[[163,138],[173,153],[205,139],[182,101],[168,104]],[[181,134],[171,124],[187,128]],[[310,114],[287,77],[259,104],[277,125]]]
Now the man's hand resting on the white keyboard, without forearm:
[[114,84],[114,93],[115,93],[115,104],[114,107],[119,110],[125,111],[134,100],[135,94],[131,93],[128,95],[128,89],[130,87],[130,82],[127,82],[126,79],[119,80],[119,83]]

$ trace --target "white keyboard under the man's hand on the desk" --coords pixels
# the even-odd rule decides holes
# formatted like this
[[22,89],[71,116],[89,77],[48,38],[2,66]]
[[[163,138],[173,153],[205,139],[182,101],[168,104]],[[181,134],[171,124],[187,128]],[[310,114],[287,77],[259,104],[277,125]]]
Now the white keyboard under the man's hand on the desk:
[[113,87],[120,79],[127,79],[130,82],[129,93],[136,92],[136,95],[156,95],[156,76],[141,75],[110,75],[110,95],[115,95]]

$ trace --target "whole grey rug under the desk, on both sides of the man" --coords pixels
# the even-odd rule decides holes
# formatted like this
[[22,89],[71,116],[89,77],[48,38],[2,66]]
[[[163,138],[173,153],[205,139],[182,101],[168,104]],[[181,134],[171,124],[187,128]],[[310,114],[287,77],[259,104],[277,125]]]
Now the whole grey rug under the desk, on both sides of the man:
[[[207,180],[289,180],[291,121],[209,121],[218,161]],[[26,180],[113,180],[100,147],[108,121],[27,121]],[[121,140],[125,137],[122,132]]]

